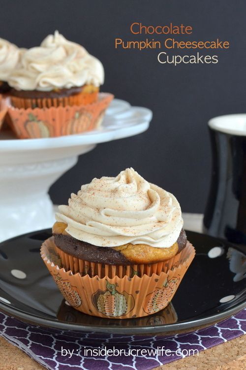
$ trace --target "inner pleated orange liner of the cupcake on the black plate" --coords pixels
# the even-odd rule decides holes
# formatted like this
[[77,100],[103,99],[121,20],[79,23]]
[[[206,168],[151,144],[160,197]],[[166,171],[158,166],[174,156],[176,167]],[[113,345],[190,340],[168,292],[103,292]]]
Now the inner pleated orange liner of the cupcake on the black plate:
[[[52,241],[54,243],[54,239],[52,239]],[[134,275],[143,276],[144,274],[149,276],[152,274],[159,275],[161,272],[167,272],[171,268],[183,263],[188,253],[188,251],[184,249],[171,259],[150,264],[114,265],[78,259],[63,252],[55,243],[54,248],[61,259],[62,267],[64,267],[66,271],[71,271],[73,274],[79,272],[81,276],[88,274],[90,277],[98,276],[99,278],[103,278],[104,276],[111,278],[116,275],[120,278],[123,278],[124,275],[130,277]]]

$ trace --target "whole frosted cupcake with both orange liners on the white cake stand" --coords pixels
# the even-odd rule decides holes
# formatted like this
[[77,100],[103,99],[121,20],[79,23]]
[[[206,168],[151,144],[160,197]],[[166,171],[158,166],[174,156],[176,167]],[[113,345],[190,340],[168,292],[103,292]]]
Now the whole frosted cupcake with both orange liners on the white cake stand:
[[56,31],[26,50],[8,77],[11,127],[21,139],[93,130],[113,99],[98,93],[103,82],[101,62]]

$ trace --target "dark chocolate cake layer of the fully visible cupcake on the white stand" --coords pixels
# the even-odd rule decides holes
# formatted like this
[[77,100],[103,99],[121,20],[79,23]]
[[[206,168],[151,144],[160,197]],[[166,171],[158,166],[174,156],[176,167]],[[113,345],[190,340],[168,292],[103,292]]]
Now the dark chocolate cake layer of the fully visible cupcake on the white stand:
[[11,89],[10,95],[23,99],[58,99],[66,96],[79,94],[83,86],[71,87],[70,89],[56,89],[51,91],[39,90],[15,90]]

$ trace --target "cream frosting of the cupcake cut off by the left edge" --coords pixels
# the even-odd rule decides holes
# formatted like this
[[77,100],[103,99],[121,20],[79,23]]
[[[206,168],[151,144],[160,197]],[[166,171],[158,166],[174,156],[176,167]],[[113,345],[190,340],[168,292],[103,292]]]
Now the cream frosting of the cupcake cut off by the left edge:
[[0,38],[0,81],[7,81],[9,74],[17,66],[24,49]]

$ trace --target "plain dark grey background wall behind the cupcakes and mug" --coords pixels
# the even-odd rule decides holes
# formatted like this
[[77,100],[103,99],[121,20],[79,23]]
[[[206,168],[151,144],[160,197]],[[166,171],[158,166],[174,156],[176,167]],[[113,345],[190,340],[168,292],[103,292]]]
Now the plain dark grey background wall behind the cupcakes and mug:
[[[183,211],[203,212],[211,173],[207,122],[216,115],[245,112],[245,15],[245,0],[1,0],[0,37],[20,47],[32,47],[57,29],[101,60],[103,91],[154,113],[147,132],[100,144],[82,155],[52,186],[52,200],[66,203],[71,192],[93,177],[116,176],[131,166],[174,193]],[[200,51],[218,55],[218,64],[162,65],[157,62],[157,50],[114,48],[115,37],[141,38],[129,31],[134,21],[191,25],[192,35],[175,38],[218,37],[230,41],[231,46],[222,51]],[[169,36],[154,37],[163,40]],[[170,50],[168,54],[196,52]]]

